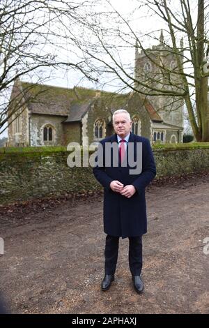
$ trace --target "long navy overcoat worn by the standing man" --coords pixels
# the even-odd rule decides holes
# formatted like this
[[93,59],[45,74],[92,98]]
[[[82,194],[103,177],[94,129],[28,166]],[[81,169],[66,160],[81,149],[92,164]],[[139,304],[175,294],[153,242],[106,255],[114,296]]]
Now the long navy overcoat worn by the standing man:
[[[130,168],[133,169],[134,167],[130,167],[128,158],[126,167],[121,166],[120,161],[119,166],[114,167],[114,151],[111,151],[110,165],[105,165],[107,154],[105,154],[104,149],[107,142],[111,144],[114,142],[115,145],[117,143],[118,147],[117,135],[107,137],[100,142],[103,149],[103,162],[102,165],[100,163],[93,168],[95,178],[104,187],[104,232],[122,238],[145,234],[147,232],[145,188],[156,174],[150,142],[146,137],[130,133],[127,154],[129,154],[128,147],[132,142],[134,159],[136,160],[137,142],[142,144],[142,170],[139,174],[130,174]],[[130,198],[116,193],[109,187],[113,180],[120,181],[124,186],[132,184],[137,192]]]

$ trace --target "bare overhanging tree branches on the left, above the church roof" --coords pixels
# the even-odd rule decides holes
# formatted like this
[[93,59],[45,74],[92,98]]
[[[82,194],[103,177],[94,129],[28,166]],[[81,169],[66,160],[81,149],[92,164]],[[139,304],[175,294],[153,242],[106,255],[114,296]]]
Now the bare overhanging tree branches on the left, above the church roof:
[[[16,119],[29,101],[29,90],[21,88],[10,98],[11,86],[18,79],[36,76],[36,83],[41,83],[50,75],[49,72],[44,77],[46,73],[42,75],[42,70],[65,68],[78,70],[84,77],[95,80],[74,46],[90,8],[88,1],[1,0],[0,133],[8,127],[8,119],[12,116]],[[68,36],[63,29],[66,16],[71,31]]]

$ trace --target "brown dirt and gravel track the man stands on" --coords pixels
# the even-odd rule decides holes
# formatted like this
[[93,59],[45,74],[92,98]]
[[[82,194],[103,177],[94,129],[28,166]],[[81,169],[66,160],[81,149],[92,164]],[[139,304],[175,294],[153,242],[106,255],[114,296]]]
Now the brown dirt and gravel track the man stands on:
[[148,188],[145,290],[132,288],[128,239],[104,276],[102,195],[1,207],[0,285],[12,313],[209,313],[209,174]]

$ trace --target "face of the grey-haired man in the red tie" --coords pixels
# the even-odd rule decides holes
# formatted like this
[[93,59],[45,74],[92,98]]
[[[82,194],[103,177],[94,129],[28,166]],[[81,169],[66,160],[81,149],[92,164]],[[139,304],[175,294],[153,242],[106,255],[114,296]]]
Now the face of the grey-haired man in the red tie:
[[130,133],[132,122],[125,113],[118,113],[114,116],[114,131],[122,139]]

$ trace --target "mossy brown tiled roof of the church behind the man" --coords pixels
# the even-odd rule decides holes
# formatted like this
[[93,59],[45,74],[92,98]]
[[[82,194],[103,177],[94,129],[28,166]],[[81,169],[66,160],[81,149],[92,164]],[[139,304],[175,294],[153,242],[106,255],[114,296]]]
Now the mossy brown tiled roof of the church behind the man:
[[[63,123],[81,121],[84,114],[88,112],[91,104],[97,98],[102,98],[111,112],[118,108],[124,108],[133,94],[114,94],[107,91],[75,87],[67,89],[47,84],[31,84],[29,82],[15,82],[17,87],[23,91],[27,106],[33,114],[48,114],[63,116]],[[135,93],[134,93],[135,94]],[[136,96],[136,94],[135,94]],[[160,115],[156,112],[148,99],[143,100],[141,95],[139,103],[144,106],[152,121],[162,122]],[[104,104],[103,104],[104,105]]]

